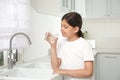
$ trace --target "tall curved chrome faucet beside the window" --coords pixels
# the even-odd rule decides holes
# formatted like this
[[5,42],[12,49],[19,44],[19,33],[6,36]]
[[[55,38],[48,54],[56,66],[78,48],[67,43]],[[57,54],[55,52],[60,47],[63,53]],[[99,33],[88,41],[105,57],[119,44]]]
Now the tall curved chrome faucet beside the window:
[[12,37],[10,38],[10,46],[9,46],[9,54],[8,54],[8,69],[12,69],[14,66],[14,58],[13,58],[13,53],[12,53],[12,40],[15,36],[17,35],[23,35],[28,39],[29,45],[31,44],[30,38],[28,37],[27,34],[19,32],[19,33],[15,33],[14,35],[12,35]]

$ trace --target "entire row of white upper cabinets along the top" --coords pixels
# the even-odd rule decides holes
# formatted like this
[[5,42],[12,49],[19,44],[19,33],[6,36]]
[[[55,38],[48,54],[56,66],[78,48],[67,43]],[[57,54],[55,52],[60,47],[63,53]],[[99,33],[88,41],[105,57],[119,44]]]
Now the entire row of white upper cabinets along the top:
[[120,0],[31,0],[31,5],[55,16],[76,11],[84,18],[120,18]]

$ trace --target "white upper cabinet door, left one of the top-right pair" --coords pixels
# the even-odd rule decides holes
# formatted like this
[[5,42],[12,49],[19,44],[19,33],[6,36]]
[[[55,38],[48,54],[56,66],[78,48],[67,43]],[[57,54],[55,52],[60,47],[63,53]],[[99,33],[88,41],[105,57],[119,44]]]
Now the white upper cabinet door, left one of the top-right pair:
[[96,18],[96,17],[104,17],[107,14],[107,0],[87,0],[88,2],[88,12],[87,16]]

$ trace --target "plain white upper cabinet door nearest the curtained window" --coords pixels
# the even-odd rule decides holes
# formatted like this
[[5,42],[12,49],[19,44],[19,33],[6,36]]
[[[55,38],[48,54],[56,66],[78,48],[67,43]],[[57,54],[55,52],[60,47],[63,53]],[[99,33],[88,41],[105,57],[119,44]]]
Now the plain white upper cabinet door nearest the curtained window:
[[62,11],[62,0],[31,0],[31,6],[38,13],[59,15]]

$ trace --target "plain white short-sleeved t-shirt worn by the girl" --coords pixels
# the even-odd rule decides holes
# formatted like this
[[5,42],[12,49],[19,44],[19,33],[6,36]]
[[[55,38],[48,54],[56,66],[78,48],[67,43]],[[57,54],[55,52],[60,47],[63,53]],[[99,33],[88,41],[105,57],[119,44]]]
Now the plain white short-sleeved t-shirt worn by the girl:
[[[57,55],[61,59],[61,69],[84,69],[84,61],[93,61],[94,55],[89,43],[82,37],[68,42],[67,39],[59,39]],[[64,80],[89,80],[64,76]]]

